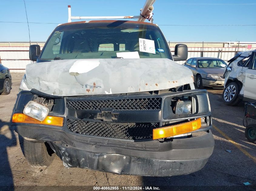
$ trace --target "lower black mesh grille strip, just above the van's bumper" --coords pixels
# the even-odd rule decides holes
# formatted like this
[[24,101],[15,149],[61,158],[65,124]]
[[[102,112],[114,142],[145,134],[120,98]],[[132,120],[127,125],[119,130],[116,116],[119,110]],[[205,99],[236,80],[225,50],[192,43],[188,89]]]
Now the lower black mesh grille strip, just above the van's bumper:
[[67,126],[71,132],[83,135],[141,140],[152,138],[158,123],[101,123],[68,118]]

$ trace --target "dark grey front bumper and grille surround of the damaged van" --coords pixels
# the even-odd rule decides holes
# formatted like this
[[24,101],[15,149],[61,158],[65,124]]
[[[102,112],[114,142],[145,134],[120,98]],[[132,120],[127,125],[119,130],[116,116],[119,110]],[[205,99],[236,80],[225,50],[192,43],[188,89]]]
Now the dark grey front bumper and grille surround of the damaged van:
[[[35,96],[37,94],[21,91],[14,113],[22,113],[25,104]],[[171,103],[174,99],[183,99],[182,97],[193,98],[192,114],[176,115],[172,112]],[[214,148],[210,131],[211,108],[206,90],[167,92],[153,96],[150,93],[140,93],[53,99],[55,106],[49,115],[62,116],[62,127],[28,123],[12,123],[12,126],[19,135],[30,138],[30,141],[34,139],[48,142],[66,167],[89,168],[117,174],[174,176],[200,170]],[[120,100],[125,99],[137,101],[129,102],[128,105],[119,104]],[[154,102],[159,103],[159,107],[156,104],[146,105],[150,108],[143,110],[133,107],[138,100],[142,100],[142,103],[144,100],[153,103],[153,99],[161,100]],[[117,103],[118,107],[115,107],[114,103]],[[145,104],[141,106],[144,107]],[[113,122],[97,119],[99,113],[106,111],[101,110],[102,107],[110,107],[111,114],[118,113],[118,119]],[[193,131],[192,135],[195,132],[204,132],[204,135],[180,139],[152,139],[152,129],[149,128],[184,123],[188,119],[198,118],[201,118],[202,126]],[[71,120],[78,122],[71,124]],[[157,126],[140,126],[145,123],[157,123]],[[102,128],[102,124],[107,125]]]

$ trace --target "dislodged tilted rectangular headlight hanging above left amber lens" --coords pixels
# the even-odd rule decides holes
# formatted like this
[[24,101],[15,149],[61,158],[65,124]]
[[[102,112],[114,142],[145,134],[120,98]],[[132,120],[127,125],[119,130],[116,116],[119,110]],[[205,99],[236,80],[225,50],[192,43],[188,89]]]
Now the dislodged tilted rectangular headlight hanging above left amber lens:
[[34,118],[34,119],[43,121],[45,119],[45,117],[48,115],[49,109],[40,103],[37,103],[35,101],[29,101],[26,104],[26,106],[23,110],[23,113],[27,116]]

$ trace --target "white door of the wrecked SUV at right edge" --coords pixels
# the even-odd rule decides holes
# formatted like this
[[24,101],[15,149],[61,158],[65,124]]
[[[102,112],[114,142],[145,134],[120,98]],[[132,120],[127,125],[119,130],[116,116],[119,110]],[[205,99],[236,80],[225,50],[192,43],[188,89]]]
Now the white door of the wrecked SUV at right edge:
[[[256,100],[256,52],[251,54],[249,67],[245,72],[244,100]],[[253,101],[252,100],[252,101]]]

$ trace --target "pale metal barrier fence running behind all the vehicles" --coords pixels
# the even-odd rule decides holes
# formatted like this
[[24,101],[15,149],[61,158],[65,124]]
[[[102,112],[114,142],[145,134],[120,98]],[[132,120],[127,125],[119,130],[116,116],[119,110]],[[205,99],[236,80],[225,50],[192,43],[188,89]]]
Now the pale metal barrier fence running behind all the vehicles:
[[[182,42],[168,42],[170,50],[174,53],[176,44]],[[44,42],[32,42],[39,44],[41,48]],[[239,51],[256,49],[256,42],[183,42],[188,46],[188,59],[192,57],[214,57],[224,61],[231,59]],[[0,63],[10,68],[11,72],[25,72],[26,65],[32,63],[29,60],[29,42],[0,42]],[[177,63],[183,64],[185,61]]]

